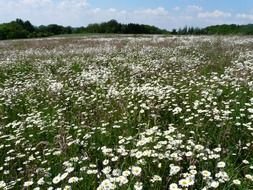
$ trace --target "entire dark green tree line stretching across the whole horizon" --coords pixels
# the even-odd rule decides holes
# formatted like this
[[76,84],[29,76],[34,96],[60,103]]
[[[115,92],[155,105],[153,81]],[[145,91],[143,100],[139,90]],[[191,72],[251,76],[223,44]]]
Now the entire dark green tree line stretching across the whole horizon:
[[108,34],[174,34],[174,35],[253,35],[253,24],[223,24],[205,28],[184,27],[167,31],[145,24],[122,24],[116,20],[89,24],[87,27],[71,27],[50,24],[34,26],[29,21],[16,19],[0,24],[0,40],[48,37],[61,34],[108,33]]

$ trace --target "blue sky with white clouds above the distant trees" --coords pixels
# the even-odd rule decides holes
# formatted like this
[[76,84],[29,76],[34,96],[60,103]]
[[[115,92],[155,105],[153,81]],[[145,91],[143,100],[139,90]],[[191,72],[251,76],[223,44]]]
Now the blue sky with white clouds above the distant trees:
[[0,0],[0,23],[87,26],[116,19],[164,29],[253,23],[253,0]]

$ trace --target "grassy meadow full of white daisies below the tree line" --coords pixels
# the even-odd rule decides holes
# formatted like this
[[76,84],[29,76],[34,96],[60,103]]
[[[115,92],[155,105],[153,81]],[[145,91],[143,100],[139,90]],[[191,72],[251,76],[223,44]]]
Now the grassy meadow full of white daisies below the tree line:
[[0,189],[252,190],[253,39],[0,41]]

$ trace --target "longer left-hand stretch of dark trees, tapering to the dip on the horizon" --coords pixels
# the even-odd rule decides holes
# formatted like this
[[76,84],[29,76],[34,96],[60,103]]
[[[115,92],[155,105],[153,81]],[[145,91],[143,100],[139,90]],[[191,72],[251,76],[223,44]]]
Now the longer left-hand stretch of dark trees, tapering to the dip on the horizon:
[[167,30],[144,24],[121,24],[110,20],[100,24],[89,24],[87,27],[64,27],[57,24],[34,26],[30,21],[16,19],[0,24],[0,40],[48,37],[60,34],[78,33],[117,33],[117,34],[166,34]]

